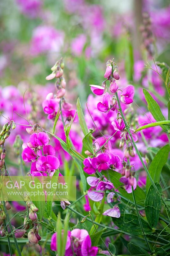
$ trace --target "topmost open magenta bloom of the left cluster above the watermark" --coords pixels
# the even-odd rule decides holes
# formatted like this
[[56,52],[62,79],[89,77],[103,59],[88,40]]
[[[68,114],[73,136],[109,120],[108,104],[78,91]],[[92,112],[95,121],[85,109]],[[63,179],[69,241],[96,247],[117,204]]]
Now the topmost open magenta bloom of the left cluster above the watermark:
[[45,132],[33,133],[30,136],[30,142],[35,148],[47,146],[49,142],[49,137]]

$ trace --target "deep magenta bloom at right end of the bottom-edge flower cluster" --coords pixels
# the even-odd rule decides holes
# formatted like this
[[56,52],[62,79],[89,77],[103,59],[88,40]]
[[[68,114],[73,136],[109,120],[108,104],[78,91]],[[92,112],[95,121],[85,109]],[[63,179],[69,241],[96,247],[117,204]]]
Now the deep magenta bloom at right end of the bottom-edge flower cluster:
[[83,256],[96,256],[98,247],[92,246],[90,236],[86,236],[81,246],[81,253]]

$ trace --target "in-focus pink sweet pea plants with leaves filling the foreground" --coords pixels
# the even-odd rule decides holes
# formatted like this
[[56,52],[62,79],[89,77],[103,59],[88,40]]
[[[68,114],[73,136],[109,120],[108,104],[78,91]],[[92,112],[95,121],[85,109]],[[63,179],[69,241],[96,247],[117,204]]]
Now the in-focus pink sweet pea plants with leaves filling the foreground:
[[[169,67],[154,67],[148,63],[145,68],[154,72],[157,83],[163,80],[170,96]],[[21,156],[23,174],[41,182],[45,176],[76,175],[77,200],[36,202],[26,196],[21,204],[3,197],[2,243],[8,244],[10,255],[169,255],[170,120],[161,112],[162,102],[144,89],[139,107],[135,86],[121,89],[113,59],[107,61],[101,85],[90,85],[96,96],[88,97],[84,115],[79,98],[76,107],[68,101],[63,70],[60,59],[46,77],[56,79],[56,91],[42,102],[48,125],[32,123],[26,112],[27,124],[22,125],[29,136],[24,143],[18,136],[14,150]],[[146,74],[141,73],[142,83]],[[10,179],[5,145],[16,125],[8,118],[0,133],[1,178]],[[17,228],[11,204],[23,211]]]

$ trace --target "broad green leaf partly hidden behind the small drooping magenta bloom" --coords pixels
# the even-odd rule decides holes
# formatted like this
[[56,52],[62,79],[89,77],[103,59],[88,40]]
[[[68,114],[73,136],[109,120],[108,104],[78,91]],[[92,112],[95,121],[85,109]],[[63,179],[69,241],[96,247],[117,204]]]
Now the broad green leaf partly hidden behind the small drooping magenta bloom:
[[[122,175],[119,172],[109,170],[109,171],[102,171],[102,174],[104,174],[105,177],[107,177],[107,179],[114,184],[115,188],[119,188],[119,192],[122,194],[122,196],[126,197],[128,200],[131,200],[133,202],[132,194],[128,194],[127,191],[121,187],[123,183],[120,182],[119,180],[122,177]],[[135,193],[135,198],[137,200],[137,204],[144,203],[146,195],[142,190],[142,188],[139,188],[137,186],[137,188],[134,190],[134,193]]]

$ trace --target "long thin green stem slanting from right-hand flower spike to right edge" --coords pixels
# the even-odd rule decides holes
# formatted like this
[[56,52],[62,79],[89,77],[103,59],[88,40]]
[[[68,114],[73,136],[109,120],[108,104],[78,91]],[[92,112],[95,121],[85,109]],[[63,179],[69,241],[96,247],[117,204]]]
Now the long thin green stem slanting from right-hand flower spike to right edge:
[[134,148],[135,148],[135,150],[136,150],[136,153],[137,153],[137,155],[139,156],[139,159],[140,159],[140,161],[141,161],[141,163],[142,163],[142,165],[143,165],[143,167],[144,167],[144,170],[146,171],[146,173],[147,173],[147,175],[148,175],[148,177],[149,177],[149,179],[150,179],[150,181],[151,181],[153,187],[155,188],[156,192],[158,193],[158,195],[159,195],[160,198],[162,199],[162,203],[164,204],[165,209],[167,209],[168,212],[170,212],[169,207],[166,205],[164,199],[162,198],[162,195],[160,194],[158,188],[156,187],[154,181],[152,180],[152,177],[151,177],[150,173],[148,172],[148,169],[147,169],[146,165],[144,164],[144,161],[143,161],[143,159],[142,159],[142,156],[141,156],[141,154],[140,154],[140,152],[139,152],[139,150],[138,150],[138,148],[137,148],[137,146],[136,146],[136,144],[135,144],[135,141],[134,141],[134,139],[133,139],[133,137],[132,137],[132,134],[131,134],[131,132],[130,132],[130,130],[129,130],[129,125],[127,124],[126,119],[125,119],[125,116],[124,116],[124,114],[123,114],[123,112],[122,112],[122,108],[121,108],[121,104],[120,104],[120,100],[119,100],[119,97],[118,97],[117,92],[115,92],[115,94],[116,94],[116,99],[117,99],[117,102],[118,102],[118,105],[119,105],[119,110],[120,110],[122,119],[123,119],[123,121],[124,121],[124,124],[125,124],[125,127],[126,127],[126,129],[127,129],[127,132],[128,132],[128,134],[129,134],[129,136],[130,136],[130,138],[131,138],[131,141],[132,141],[132,143],[133,143],[133,146],[134,146]]

